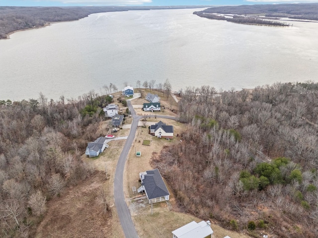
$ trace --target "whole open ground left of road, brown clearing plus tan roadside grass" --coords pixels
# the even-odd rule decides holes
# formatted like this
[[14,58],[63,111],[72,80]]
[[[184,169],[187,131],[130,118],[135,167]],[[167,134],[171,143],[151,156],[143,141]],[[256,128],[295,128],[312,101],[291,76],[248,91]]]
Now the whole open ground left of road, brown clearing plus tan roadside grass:
[[[129,129],[122,129],[116,136],[128,133]],[[124,237],[114,205],[113,184],[117,161],[125,142],[126,140],[110,141],[109,147],[95,158],[87,158],[83,154],[82,160],[95,168],[95,174],[47,203],[47,213],[37,229],[37,238]],[[106,193],[110,213],[104,213],[101,189]]]

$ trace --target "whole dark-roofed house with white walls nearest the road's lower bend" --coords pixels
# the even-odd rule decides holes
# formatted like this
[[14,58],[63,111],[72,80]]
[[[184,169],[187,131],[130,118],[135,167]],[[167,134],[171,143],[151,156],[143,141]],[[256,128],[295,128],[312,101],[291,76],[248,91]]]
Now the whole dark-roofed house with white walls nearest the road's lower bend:
[[158,169],[149,170],[139,174],[141,186],[138,192],[145,192],[147,202],[156,203],[169,200],[169,191]]

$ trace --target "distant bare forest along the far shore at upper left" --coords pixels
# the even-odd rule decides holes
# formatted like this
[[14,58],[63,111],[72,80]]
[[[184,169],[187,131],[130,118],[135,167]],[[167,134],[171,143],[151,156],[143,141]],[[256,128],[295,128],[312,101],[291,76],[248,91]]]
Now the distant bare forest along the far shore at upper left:
[[[11,32],[41,27],[50,22],[71,21],[92,13],[128,10],[197,8],[198,6],[78,6],[78,7],[15,7],[0,6],[0,39]],[[200,6],[205,7],[205,6]]]

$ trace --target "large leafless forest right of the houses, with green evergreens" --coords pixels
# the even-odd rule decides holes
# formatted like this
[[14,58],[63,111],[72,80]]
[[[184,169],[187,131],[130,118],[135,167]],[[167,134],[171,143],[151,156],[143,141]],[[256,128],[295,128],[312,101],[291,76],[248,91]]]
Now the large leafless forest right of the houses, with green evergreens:
[[181,210],[252,237],[318,237],[318,83],[189,87],[182,142],[153,155]]

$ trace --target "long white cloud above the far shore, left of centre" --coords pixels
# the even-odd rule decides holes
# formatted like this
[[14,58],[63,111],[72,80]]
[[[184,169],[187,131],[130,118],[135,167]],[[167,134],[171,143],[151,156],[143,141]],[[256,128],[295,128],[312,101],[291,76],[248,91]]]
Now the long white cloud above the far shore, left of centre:
[[[51,0],[52,1],[52,0]],[[152,0],[53,0],[65,4],[87,4],[87,5],[104,5],[104,6],[119,6],[119,5],[142,5],[150,3]]]

